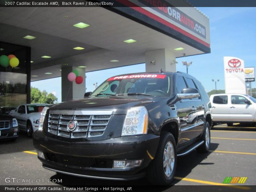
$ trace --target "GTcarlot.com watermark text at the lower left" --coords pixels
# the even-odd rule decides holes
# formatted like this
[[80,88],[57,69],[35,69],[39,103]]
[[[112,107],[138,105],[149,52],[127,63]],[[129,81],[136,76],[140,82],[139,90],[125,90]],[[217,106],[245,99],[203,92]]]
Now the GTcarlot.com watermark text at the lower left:
[[62,183],[62,179],[20,179],[16,177],[6,177],[5,183]]

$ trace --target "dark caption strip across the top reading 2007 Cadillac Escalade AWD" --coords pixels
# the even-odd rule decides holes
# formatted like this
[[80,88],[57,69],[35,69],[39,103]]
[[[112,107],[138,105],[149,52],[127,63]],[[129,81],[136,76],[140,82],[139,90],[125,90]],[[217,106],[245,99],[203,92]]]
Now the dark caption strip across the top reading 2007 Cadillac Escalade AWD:
[[[153,7],[161,7],[162,0],[144,0]],[[174,7],[256,7],[255,0],[166,0]],[[0,7],[145,7],[139,0],[0,0]],[[156,5],[156,6],[155,6]]]

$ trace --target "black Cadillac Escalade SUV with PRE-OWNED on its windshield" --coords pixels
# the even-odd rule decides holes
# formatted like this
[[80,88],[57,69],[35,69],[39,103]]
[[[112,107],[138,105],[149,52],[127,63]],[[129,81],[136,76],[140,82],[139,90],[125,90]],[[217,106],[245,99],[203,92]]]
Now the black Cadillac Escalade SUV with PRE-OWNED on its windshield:
[[209,97],[190,75],[114,76],[85,95],[44,108],[33,135],[44,168],[111,180],[147,176],[165,185],[177,156],[209,151]]

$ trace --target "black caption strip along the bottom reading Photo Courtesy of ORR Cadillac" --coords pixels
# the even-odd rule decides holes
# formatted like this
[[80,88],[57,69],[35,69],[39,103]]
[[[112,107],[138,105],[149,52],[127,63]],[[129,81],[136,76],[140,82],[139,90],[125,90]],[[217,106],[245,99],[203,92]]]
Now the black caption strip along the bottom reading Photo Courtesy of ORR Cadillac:
[[[173,185],[173,186],[36,186],[36,185],[20,185],[20,186],[0,186],[1,192],[81,192],[81,191],[91,191],[91,192],[241,192],[243,191],[242,185],[227,185],[227,186],[212,186],[212,185]],[[244,186],[245,187],[245,186]],[[246,186],[246,192],[251,192],[256,190],[256,186]]]

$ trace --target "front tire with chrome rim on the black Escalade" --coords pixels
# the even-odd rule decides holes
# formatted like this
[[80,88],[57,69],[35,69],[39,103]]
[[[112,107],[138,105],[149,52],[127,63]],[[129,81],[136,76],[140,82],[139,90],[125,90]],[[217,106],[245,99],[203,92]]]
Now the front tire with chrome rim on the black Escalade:
[[[164,166],[164,161],[169,163]],[[170,185],[176,172],[176,166],[175,139],[172,133],[162,132],[155,159],[149,165],[147,179],[153,185]]]

